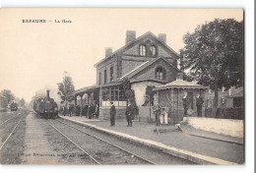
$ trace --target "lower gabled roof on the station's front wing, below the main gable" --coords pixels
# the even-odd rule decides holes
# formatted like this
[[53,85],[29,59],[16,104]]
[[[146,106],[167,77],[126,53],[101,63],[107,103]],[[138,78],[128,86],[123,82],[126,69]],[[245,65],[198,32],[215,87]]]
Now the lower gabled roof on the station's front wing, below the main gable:
[[141,64],[140,66],[134,68],[133,70],[131,70],[130,72],[128,72],[127,74],[125,74],[124,76],[122,76],[121,78],[117,79],[118,80],[123,80],[124,78],[131,78],[133,76],[135,76],[136,74],[138,74],[139,72],[141,72],[142,70],[146,69],[147,67],[151,66],[152,64],[154,64],[155,62],[157,62],[158,60],[162,59],[163,61],[165,61],[167,64],[169,64],[174,70],[176,70],[177,72],[179,72],[179,69],[177,69],[175,66],[173,66],[168,60],[166,60],[164,57],[160,56],[159,58],[156,58],[152,61],[146,61],[145,63]]

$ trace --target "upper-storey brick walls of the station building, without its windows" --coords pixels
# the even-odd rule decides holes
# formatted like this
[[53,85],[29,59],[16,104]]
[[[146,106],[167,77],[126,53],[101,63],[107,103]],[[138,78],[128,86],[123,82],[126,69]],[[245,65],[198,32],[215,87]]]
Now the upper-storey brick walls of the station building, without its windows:
[[[131,35],[132,34],[132,35]],[[105,59],[101,60],[96,64],[96,84],[102,85],[104,84],[104,70],[106,70],[106,84],[110,83],[110,67],[113,67],[113,81],[116,81],[118,78],[124,76],[125,74],[131,72],[133,69],[137,68],[141,64],[146,61],[153,61],[156,58],[164,57],[168,60],[174,67],[177,66],[177,54],[173,52],[170,48],[162,43],[156,35],[151,32],[145,33],[141,37],[135,39],[136,32],[129,30],[127,32],[130,41],[126,43],[126,45],[121,48],[118,52],[105,57]],[[161,35],[161,34],[160,34]],[[146,55],[140,55],[140,45],[144,45],[146,47]],[[156,55],[151,54],[151,46],[156,47]],[[109,49],[106,49],[106,51]],[[109,55],[108,52],[105,53]],[[160,62],[163,65],[165,62]],[[164,65],[163,65],[164,66]],[[151,70],[149,73],[149,77],[146,78],[154,78],[155,70]],[[166,68],[166,82],[174,80],[172,78],[173,73],[169,73],[170,71]],[[99,83],[99,73],[101,74],[101,81]],[[144,78],[142,76],[141,78]],[[140,79],[141,79],[140,78]]]

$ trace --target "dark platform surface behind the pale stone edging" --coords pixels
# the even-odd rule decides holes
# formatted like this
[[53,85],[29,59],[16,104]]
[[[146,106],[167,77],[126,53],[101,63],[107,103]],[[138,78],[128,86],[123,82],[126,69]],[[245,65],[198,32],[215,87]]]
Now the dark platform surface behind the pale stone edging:
[[157,142],[168,146],[174,146],[176,148],[185,149],[202,155],[216,157],[239,164],[244,162],[243,144],[233,144],[207,138],[199,138],[181,131],[158,134],[157,132],[154,132],[154,130],[156,130],[155,124],[139,122],[139,120],[135,120],[133,122],[133,127],[126,127],[126,120],[117,119],[115,127],[109,127],[109,121],[89,120],[85,117],[76,116],[68,118],[96,125],[97,127],[106,130],[120,132],[122,134],[131,135],[133,137],[150,140],[152,142]]

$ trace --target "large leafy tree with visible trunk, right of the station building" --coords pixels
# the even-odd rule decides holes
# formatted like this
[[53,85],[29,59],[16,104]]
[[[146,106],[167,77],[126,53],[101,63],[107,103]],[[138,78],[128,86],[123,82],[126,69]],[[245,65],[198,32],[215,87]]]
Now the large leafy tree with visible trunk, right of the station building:
[[215,90],[216,115],[219,88],[240,87],[244,83],[243,22],[216,19],[188,32],[183,40],[181,70],[189,69],[198,84]]

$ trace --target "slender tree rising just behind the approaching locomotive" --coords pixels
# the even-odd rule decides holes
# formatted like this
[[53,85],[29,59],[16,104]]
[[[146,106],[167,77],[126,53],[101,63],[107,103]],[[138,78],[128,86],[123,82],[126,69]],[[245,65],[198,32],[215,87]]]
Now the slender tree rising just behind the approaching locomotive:
[[58,83],[58,94],[62,99],[62,103],[66,100],[66,97],[75,91],[75,87],[72,82],[72,78],[67,72],[64,72],[64,77],[62,83]]

